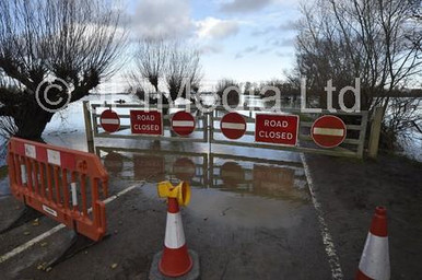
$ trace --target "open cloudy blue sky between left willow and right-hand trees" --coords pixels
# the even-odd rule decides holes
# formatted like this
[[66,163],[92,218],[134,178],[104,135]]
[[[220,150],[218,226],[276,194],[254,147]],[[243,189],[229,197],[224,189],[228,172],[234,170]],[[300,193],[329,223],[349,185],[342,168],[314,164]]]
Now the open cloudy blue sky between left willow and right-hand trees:
[[223,78],[283,79],[294,67],[298,1],[127,0],[124,7],[131,42],[169,36],[201,51],[204,89]]

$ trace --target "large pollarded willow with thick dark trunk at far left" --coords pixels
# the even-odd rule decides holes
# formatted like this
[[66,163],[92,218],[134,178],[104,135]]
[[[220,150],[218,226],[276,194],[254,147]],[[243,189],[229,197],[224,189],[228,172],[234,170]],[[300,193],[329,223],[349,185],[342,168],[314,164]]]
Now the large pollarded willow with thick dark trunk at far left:
[[40,140],[55,112],[117,69],[120,13],[106,0],[0,2],[1,127]]

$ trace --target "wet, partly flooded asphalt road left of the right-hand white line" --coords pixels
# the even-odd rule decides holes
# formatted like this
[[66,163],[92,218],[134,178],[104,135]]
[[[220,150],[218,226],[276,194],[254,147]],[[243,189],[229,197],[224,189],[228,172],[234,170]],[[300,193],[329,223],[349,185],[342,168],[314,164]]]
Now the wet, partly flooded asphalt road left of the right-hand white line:
[[[127,148],[114,148],[121,145]],[[191,147],[97,142],[110,175],[110,195],[139,186],[107,205],[110,236],[49,272],[38,270],[70,242],[69,231],[60,230],[0,262],[2,279],[146,279],[164,241],[166,206],[156,195],[162,179],[185,179],[192,186],[183,220],[188,247],[200,255],[202,279],[331,278],[298,154],[223,147],[210,154],[208,145]],[[9,211],[2,212],[0,225],[16,215],[10,209],[21,207],[3,197],[0,208]],[[0,235],[0,255],[55,225],[40,218]]]

